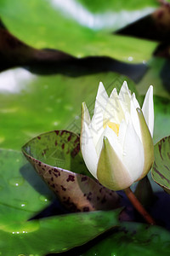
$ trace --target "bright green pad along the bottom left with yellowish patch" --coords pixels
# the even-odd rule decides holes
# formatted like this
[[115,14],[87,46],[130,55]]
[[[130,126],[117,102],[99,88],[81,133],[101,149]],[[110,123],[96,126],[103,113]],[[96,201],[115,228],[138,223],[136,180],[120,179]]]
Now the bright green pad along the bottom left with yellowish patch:
[[[6,207],[4,213],[8,210]],[[118,224],[118,212],[82,212],[29,222],[16,220],[14,224],[10,218],[18,212],[10,213],[9,224],[0,226],[0,253],[7,256],[64,252]]]

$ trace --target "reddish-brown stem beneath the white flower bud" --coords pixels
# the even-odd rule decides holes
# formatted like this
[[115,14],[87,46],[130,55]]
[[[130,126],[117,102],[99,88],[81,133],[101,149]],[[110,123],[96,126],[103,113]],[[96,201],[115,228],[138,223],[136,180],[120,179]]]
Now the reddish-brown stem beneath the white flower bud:
[[147,221],[147,223],[154,225],[156,224],[155,220],[150,216],[148,212],[144,209],[142,204],[139,202],[139,200],[136,198],[136,196],[133,194],[133,191],[130,188],[124,189],[125,194],[127,195],[129,201],[133,204],[133,207],[136,208],[136,210],[144,217],[144,219]]

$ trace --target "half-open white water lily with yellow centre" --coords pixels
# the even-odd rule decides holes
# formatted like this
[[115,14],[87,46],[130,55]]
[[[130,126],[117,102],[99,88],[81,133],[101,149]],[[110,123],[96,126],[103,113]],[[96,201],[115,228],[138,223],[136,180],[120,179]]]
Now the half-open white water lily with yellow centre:
[[152,85],[141,109],[126,81],[110,97],[100,82],[92,119],[82,103],[81,150],[89,172],[109,189],[130,187],[150,171],[153,129]]

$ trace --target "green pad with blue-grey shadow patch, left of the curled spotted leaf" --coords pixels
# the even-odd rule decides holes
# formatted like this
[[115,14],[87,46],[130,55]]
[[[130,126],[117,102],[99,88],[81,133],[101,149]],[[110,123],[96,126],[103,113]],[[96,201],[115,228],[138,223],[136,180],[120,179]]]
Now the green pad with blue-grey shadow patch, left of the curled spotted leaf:
[[[0,163],[1,205],[19,209],[20,217],[26,213],[27,217],[24,218],[31,218],[44,207],[48,207],[54,199],[54,194],[41,181],[31,165],[27,164],[20,152],[1,149]],[[1,213],[8,222],[8,212],[3,214],[1,210]]]

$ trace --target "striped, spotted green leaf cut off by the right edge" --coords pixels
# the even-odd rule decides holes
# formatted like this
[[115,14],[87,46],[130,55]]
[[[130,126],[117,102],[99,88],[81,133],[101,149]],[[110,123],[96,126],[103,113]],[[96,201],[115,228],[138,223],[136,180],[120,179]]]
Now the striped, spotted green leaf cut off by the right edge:
[[164,137],[154,148],[155,161],[152,177],[170,194],[170,137]]

